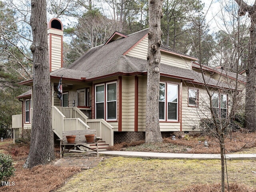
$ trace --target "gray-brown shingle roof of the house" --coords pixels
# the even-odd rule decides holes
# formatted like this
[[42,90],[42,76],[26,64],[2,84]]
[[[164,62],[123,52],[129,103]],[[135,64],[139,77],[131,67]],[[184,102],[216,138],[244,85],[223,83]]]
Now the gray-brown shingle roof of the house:
[[[128,35],[105,45],[100,45],[88,50],[83,56],[71,64],[68,68],[61,68],[51,72],[51,76],[73,78],[81,80],[93,80],[111,74],[132,74],[146,72],[147,60],[123,55],[129,48],[134,46],[148,33],[148,29]],[[170,49],[166,49],[170,50]],[[175,50],[171,50],[175,52]],[[177,52],[179,53],[179,52]],[[179,53],[182,54],[182,53]],[[187,56],[186,54],[182,54]],[[160,73],[163,76],[188,80],[190,82],[203,84],[202,75],[190,69],[183,69],[167,64],[160,65]],[[212,78],[206,77],[208,84],[217,86],[220,84]],[[222,85],[228,87],[226,85]]]

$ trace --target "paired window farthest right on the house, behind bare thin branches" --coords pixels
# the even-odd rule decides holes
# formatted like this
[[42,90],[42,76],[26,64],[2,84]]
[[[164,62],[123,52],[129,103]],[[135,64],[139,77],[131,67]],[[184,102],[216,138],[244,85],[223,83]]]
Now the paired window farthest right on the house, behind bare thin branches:
[[228,96],[226,94],[212,94],[212,108],[216,117],[227,117],[227,98]]

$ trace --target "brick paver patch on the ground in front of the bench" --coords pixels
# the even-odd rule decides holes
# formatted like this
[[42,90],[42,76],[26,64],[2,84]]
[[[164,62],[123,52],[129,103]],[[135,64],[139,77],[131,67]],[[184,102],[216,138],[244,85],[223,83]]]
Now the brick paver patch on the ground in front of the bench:
[[89,169],[97,166],[102,159],[102,157],[63,157],[53,164],[56,166],[79,166],[82,169]]

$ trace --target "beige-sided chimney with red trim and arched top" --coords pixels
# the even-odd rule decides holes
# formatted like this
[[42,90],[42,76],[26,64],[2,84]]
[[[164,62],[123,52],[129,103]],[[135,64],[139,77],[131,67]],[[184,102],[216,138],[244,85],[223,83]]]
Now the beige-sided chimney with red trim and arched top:
[[48,22],[48,49],[50,72],[62,68],[63,26],[60,20],[53,18]]

